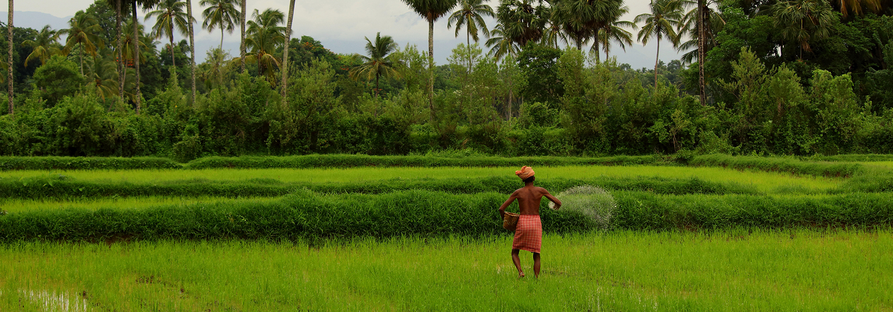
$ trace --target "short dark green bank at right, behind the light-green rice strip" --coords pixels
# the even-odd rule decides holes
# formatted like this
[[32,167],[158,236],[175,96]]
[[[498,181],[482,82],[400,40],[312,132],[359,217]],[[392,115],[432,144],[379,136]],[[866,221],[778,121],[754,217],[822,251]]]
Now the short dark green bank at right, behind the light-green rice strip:
[[863,168],[862,165],[856,163],[814,162],[792,158],[729,156],[722,154],[697,156],[689,161],[689,165],[789,172],[796,175],[816,177],[852,177]]

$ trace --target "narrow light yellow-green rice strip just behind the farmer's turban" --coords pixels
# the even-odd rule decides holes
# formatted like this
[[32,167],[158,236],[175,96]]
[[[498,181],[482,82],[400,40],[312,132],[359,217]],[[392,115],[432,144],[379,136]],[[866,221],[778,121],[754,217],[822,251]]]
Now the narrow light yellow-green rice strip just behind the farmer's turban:
[[[26,170],[0,172],[0,178],[63,175],[80,181],[162,183],[171,181],[247,181],[282,183],[356,183],[395,178],[511,177],[517,168],[271,168],[196,170]],[[842,178],[797,176],[732,168],[687,168],[669,166],[564,166],[538,167],[537,178],[663,177],[689,178],[718,183],[754,186],[762,193],[824,193],[846,181]]]

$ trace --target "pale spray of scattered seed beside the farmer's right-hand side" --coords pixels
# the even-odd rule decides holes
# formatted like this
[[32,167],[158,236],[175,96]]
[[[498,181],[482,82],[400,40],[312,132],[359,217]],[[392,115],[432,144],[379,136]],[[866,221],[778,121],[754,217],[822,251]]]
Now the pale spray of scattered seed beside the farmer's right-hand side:
[[[611,219],[614,209],[617,209],[617,201],[605,189],[592,185],[580,185],[559,193],[557,197],[562,202],[562,210],[579,211],[600,229],[606,230],[611,227]],[[555,209],[555,203],[549,202],[549,208]]]

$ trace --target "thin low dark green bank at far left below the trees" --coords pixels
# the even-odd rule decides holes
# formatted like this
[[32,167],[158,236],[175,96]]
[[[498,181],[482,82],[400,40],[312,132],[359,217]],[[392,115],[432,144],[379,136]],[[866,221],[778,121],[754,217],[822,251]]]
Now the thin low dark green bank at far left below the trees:
[[179,163],[157,157],[11,157],[0,156],[4,170],[91,170],[91,169],[171,169]]

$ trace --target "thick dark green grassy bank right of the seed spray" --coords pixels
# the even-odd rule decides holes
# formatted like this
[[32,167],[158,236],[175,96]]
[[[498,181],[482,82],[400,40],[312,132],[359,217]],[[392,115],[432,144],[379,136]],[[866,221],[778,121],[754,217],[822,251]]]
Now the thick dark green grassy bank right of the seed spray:
[[886,193],[840,195],[659,195],[615,192],[615,226],[631,230],[865,227],[893,225]]

